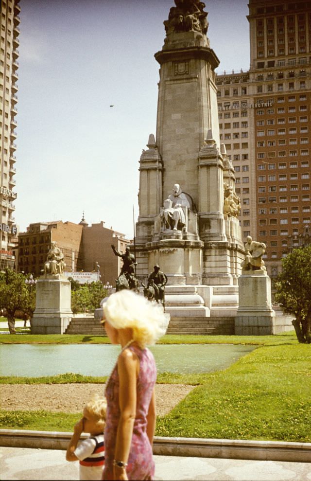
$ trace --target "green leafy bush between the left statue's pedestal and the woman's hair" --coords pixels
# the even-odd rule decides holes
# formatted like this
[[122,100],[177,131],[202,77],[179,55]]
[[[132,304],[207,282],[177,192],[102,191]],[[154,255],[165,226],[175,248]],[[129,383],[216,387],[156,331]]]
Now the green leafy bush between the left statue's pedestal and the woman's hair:
[[100,281],[83,285],[70,277],[69,281],[71,283],[71,310],[73,314],[93,312],[100,307],[100,302],[107,293]]

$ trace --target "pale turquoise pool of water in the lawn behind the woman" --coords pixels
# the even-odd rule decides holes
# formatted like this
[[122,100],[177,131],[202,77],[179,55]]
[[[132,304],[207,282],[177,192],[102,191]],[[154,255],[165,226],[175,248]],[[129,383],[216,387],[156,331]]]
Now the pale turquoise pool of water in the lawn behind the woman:
[[[210,373],[225,369],[256,346],[232,344],[157,344],[150,350],[159,373]],[[110,344],[2,344],[1,376],[109,375],[120,353]]]

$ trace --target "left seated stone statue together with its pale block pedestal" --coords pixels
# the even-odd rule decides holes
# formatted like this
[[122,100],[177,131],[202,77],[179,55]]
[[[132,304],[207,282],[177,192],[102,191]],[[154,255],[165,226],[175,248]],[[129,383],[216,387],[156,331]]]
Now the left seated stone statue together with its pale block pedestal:
[[64,334],[71,321],[71,285],[64,276],[65,267],[61,249],[52,242],[44,274],[36,283],[32,334]]

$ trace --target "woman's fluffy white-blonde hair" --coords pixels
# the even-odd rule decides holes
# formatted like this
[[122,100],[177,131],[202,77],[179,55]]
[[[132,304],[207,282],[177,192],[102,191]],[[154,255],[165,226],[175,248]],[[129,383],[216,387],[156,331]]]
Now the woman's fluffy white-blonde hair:
[[103,303],[106,320],[116,329],[133,329],[133,339],[140,347],[155,342],[164,336],[168,326],[168,315],[160,304],[151,303],[143,296],[122,289],[108,297]]

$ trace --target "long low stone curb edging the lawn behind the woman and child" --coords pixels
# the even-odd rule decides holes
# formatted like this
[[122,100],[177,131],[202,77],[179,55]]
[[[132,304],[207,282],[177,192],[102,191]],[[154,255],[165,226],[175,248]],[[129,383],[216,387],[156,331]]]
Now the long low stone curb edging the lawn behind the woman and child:
[[[0,429],[0,446],[67,449],[71,432]],[[86,434],[82,438],[87,437]],[[155,436],[154,454],[255,461],[311,462],[311,443]]]

